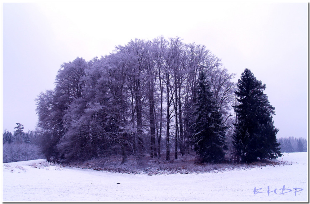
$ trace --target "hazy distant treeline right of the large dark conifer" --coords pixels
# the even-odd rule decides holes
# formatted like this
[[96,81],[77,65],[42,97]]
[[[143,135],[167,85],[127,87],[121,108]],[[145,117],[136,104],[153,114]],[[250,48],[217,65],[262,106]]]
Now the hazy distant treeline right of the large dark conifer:
[[304,138],[279,138],[281,152],[307,152],[307,140]]

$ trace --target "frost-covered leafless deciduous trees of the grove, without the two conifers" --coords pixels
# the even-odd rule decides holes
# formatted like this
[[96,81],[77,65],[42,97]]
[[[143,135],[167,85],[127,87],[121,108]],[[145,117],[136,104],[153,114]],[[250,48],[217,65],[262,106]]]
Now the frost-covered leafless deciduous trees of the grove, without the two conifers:
[[[170,161],[193,149],[193,105],[199,70],[210,81],[224,122],[235,84],[203,45],[180,38],[135,39],[100,59],[64,63],[55,89],[38,95],[37,131],[48,161],[118,155]],[[163,140],[162,140],[163,139]],[[165,141],[165,144],[162,143]],[[165,145],[165,146],[164,146]]]

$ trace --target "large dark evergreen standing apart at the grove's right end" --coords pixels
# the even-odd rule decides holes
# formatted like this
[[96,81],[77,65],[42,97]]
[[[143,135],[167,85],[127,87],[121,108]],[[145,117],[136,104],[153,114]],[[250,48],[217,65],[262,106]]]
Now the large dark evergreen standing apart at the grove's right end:
[[263,93],[265,89],[266,85],[258,81],[249,69],[245,69],[238,80],[235,94],[239,104],[234,106],[237,122],[234,124],[233,144],[243,162],[281,157],[276,140],[279,130],[272,121],[275,108]]

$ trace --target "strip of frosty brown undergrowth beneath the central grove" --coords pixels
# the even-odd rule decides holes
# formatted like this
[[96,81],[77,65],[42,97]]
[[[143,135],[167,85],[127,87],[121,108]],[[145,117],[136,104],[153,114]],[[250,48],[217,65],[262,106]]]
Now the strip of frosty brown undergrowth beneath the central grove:
[[265,166],[283,166],[291,165],[289,162],[280,162],[278,160],[263,159],[249,164],[223,162],[218,164],[196,163],[194,155],[179,156],[178,159],[165,161],[164,158],[128,157],[126,162],[122,162],[120,157],[96,158],[86,162],[70,163],[66,166],[93,169],[94,171],[109,171],[126,174],[147,175],[157,174],[199,174],[205,172],[222,172],[232,170],[242,170],[251,168],[263,168]]

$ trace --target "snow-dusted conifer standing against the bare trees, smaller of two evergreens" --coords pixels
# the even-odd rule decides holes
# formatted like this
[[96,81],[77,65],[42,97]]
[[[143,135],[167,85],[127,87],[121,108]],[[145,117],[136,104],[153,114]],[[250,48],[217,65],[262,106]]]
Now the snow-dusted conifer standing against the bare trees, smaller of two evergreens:
[[206,81],[201,71],[198,78],[196,110],[197,116],[194,124],[195,151],[202,162],[216,163],[224,160],[224,141],[226,127],[219,112],[212,92],[210,82]]

